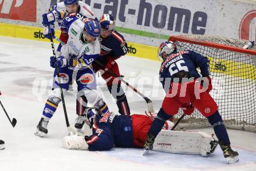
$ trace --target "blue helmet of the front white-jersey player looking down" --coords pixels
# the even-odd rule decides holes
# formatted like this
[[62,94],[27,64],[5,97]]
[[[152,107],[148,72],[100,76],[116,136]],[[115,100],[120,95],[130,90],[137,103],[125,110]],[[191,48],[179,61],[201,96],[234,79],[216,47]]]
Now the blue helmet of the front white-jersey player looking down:
[[99,37],[101,34],[101,27],[99,26],[99,22],[93,19],[87,19],[84,21],[84,29],[86,30],[86,34],[91,37]]

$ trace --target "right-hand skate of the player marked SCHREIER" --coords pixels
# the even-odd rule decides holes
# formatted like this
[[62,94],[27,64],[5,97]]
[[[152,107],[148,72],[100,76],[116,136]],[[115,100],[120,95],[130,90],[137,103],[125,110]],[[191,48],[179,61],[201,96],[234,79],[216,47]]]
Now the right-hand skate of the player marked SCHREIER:
[[230,145],[224,144],[223,141],[219,141],[223,155],[227,160],[227,163],[234,163],[239,161],[239,154],[236,151],[233,151]]

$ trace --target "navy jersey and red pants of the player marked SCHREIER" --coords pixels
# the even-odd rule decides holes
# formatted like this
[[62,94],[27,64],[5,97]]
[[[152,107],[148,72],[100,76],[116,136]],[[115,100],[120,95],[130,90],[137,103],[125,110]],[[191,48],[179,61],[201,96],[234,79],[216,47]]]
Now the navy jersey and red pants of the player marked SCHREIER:
[[[197,81],[197,78],[201,77],[197,68],[200,68],[202,77],[209,77],[209,60],[191,50],[170,54],[163,61],[159,71],[159,79],[167,93],[162,103],[162,109],[166,114],[177,114],[179,108],[186,103],[193,103],[194,107],[205,117],[214,114],[218,109],[214,99],[207,91],[197,93],[197,90],[201,88],[201,82]],[[177,79],[176,82],[175,78]],[[190,82],[182,83],[184,78]],[[186,88],[182,88],[182,85],[185,85]],[[184,96],[182,96],[183,93]]]

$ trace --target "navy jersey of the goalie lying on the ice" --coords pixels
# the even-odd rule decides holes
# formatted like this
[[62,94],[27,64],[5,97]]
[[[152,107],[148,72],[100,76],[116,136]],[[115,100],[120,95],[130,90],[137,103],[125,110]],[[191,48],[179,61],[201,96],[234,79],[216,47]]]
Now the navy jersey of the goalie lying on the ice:
[[131,117],[113,112],[98,117],[87,144],[90,151],[109,150],[113,147],[134,147]]

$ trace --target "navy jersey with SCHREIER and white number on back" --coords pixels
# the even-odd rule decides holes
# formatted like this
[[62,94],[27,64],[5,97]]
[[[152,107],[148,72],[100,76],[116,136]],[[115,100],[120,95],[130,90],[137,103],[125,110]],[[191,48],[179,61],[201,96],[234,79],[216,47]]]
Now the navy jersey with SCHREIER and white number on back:
[[170,86],[172,78],[180,71],[186,71],[194,78],[201,77],[197,68],[200,68],[202,77],[209,75],[209,60],[207,57],[192,50],[170,54],[161,64],[159,81],[162,83],[163,88],[168,91],[169,88],[166,89],[166,87]]

